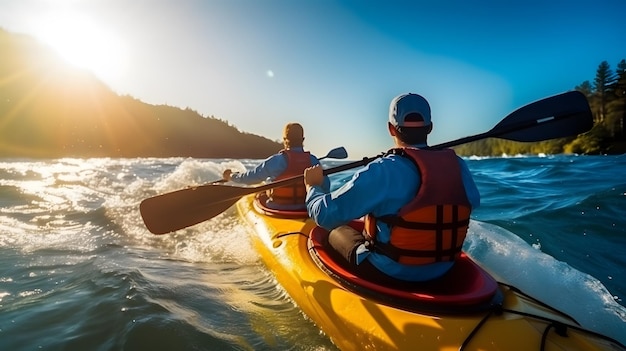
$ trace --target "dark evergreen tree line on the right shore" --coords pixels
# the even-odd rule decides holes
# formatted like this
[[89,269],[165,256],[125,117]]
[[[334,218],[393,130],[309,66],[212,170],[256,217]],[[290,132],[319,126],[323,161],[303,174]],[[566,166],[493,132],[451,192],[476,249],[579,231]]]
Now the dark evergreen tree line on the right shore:
[[568,138],[522,143],[485,139],[455,147],[463,156],[501,156],[517,154],[622,154],[626,153],[626,60],[612,69],[602,61],[593,81],[574,88],[585,94],[593,114],[593,128]]

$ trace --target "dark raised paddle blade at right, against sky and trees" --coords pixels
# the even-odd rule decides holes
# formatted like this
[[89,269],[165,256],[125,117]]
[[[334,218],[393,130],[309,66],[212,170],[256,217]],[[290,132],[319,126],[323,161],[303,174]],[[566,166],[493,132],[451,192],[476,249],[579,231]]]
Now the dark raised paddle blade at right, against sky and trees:
[[551,96],[525,105],[487,134],[514,141],[542,141],[584,133],[593,127],[585,95],[579,91]]

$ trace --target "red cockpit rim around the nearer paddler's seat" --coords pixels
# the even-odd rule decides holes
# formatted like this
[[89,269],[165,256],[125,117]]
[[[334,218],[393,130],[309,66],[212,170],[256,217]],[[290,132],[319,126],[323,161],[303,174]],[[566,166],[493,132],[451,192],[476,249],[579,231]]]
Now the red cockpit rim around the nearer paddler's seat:
[[[354,221],[351,225],[362,227],[362,222]],[[406,282],[393,279],[369,264],[356,270],[328,245],[327,237],[325,229],[313,228],[308,242],[312,258],[320,269],[361,295],[422,313],[475,313],[502,304],[498,283],[464,253],[443,277],[428,282]]]

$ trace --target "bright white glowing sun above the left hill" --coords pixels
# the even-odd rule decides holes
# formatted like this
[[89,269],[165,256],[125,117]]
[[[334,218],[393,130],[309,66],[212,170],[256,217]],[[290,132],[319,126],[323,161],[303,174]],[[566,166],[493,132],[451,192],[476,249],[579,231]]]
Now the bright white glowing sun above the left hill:
[[93,18],[70,11],[50,13],[38,19],[33,32],[66,61],[107,83],[124,75],[127,62],[122,40]]

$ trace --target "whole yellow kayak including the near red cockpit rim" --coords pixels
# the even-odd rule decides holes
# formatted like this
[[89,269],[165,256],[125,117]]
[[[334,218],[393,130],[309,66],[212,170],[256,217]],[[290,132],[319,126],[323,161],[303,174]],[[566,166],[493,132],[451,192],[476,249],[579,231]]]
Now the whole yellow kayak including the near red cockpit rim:
[[466,254],[426,283],[364,276],[327,247],[306,211],[269,209],[263,195],[236,207],[277,282],[341,350],[626,350],[496,282]]

